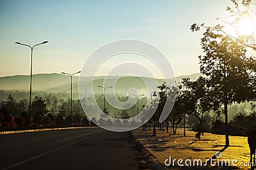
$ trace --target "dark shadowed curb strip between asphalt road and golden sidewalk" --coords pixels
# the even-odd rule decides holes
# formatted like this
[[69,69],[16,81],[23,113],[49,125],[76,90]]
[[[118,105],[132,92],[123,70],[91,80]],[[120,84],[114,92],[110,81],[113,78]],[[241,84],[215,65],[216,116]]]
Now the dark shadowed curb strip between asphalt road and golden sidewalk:
[[132,141],[131,143],[134,143],[135,145],[135,154],[138,155],[138,159],[140,160],[141,167],[140,169],[156,169],[156,170],[163,170],[164,167],[161,165],[161,163],[150,153],[147,148],[145,148],[142,143],[139,141],[136,136],[134,136],[133,132],[132,134]]

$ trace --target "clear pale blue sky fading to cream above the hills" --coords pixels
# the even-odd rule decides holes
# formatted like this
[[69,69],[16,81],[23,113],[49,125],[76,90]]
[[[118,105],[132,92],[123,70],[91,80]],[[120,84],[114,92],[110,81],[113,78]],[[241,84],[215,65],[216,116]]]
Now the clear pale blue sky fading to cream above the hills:
[[[93,51],[118,39],[139,39],[156,46],[175,76],[199,73],[203,32],[189,28],[193,23],[230,22],[227,6],[232,6],[230,0],[0,0],[0,76],[30,74],[30,50],[16,41],[31,46],[49,41],[33,50],[33,74],[38,74],[80,71]],[[131,59],[145,63],[141,57]],[[109,60],[97,75],[126,60],[124,56]],[[147,67],[157,73],[151,64]]]

